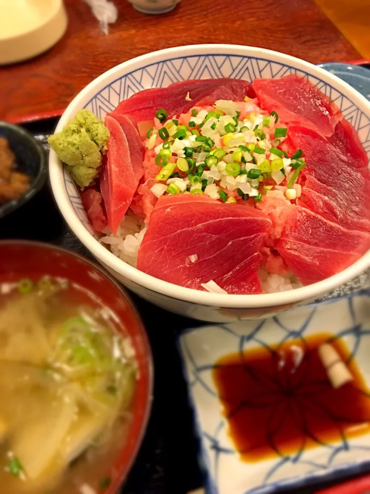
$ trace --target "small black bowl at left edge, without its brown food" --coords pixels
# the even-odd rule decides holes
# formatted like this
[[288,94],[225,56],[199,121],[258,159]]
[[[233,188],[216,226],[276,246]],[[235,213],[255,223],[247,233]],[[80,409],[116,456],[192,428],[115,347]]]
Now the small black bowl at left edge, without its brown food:
[[0,136],[8,140],[15,154],[17,170],[31,178],[30,187],[23,196],[0,206],[1,219],[23,206],[42,189],[47,178],[47,166],[43,147],[22,127],[0,121]]

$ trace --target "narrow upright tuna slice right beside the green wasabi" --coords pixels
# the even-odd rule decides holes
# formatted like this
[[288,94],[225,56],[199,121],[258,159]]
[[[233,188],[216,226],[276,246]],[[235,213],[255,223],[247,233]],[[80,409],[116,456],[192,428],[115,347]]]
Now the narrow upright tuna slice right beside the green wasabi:
[[[128,144],[120,123],[111,116],[106,116],[104,123],[110,135],[108,151],[102,166],[100,190],[104,199],[109,228],[116,233],[139,184],[139,171],[137,165],[134,169],[130,153],[134,143]],[[134,161],[140,152],[141,150],[136,149],[133,151]]]

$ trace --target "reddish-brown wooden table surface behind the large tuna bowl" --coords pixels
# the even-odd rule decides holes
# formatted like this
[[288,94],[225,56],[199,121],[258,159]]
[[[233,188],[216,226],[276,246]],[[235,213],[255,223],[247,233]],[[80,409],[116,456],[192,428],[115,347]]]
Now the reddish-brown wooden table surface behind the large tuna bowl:
[[64,109],[108,68],[171,46],[245,44],[312,63],[361,58],[312,0],[182,0],[163,15],[115,3],[119,19],[105,36],[85,2],[65,0],[64,38],[38,58],[0,67],[0,119]]

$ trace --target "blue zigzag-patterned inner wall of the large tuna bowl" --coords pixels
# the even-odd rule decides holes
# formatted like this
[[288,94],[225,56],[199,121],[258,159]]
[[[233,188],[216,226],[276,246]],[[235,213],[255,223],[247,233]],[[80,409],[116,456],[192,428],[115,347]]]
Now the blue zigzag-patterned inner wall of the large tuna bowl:
[[[306,77],[337,104],[344,118],[355,127],[370,158],[370,119],[359,110],[352,100],[320,78],[303,72],[293,65],[273,62],[264,58],[220,53],[218,55],[193,55],[162,60],[123,74],[103,87],[86,103],[84,108],[93,111],[99,118],[103,119],[106,113],[113,111],[120,101],[150,87],[166,87],[173,82],[189,79],[216,79],[220,77],[244,79],[251,82],[258,77],[280,78],[289,74]],[[87,216],[81,201],[78,199],[78,190],[68,179],[68,176],[69,173],[65,172],[64,178],[69,181],[66,188],[68,194],[69,191],[72,193],[70,196],[72,206],[91,233]]]

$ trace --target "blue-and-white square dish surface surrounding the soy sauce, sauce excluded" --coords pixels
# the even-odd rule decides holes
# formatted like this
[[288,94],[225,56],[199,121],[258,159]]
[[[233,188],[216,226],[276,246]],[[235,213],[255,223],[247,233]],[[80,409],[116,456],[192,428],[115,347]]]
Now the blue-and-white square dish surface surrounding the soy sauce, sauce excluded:
[[[212,378],[215,362],[225,355],[255,348],[271,350],[291,340],[330,333],[347,347],[370,387],[370,291],[291,309],[265,321],[236,322],[189,329],[180,337],[184,375],[200,438],[199,462],[207,494],[267,494],[319,479],[338,479],[369,466],[370,433],[337,442],[318,442],[291,454],[244,462],[228,434]],[[330,339],[332,341],[332,339]],[[370,395],[368,396],[370,400]],[[315,398],[312,398],[314,400]],[[253,404],[251,405],[253,406]]]

